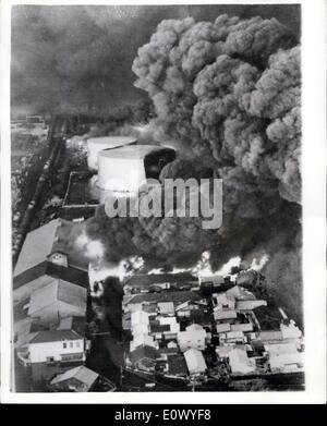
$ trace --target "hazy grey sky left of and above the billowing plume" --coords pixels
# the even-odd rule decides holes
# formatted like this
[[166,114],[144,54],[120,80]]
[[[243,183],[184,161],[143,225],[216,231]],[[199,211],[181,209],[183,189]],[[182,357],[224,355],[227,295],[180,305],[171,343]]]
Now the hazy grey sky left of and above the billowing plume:
[[146,97],[132,63],[165,19],[275,16],[296,36],[298,5],[16,5],[12,9],[13,112],[100,112]]

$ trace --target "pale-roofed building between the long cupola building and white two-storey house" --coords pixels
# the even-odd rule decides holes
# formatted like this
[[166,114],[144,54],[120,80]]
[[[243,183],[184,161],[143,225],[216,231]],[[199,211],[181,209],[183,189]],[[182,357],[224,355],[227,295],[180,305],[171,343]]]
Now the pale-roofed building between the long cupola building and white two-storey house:
[[38,324],[49,325],[66,317],[85,317],[86,289],[61,279],[34,291],[27,315]]

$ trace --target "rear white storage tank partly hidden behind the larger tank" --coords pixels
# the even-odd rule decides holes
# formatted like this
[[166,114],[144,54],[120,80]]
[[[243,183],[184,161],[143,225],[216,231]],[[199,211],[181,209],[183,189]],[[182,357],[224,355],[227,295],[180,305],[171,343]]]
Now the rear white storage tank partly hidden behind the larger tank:
[[90,170],[98,169],[98,154],[102,149],[113,149],[125,145],[136,144],[132,136],[104,136],[87,139],[87,165]]

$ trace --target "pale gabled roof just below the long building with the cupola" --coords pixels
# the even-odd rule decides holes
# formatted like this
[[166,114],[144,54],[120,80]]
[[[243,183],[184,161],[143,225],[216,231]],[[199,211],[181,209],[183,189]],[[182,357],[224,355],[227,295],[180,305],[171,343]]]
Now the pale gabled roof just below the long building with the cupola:
[[68,281],[55,279],[50,284],[36,290],[29,299],[28,315],[33,315],[57,302],[86,309],[86,289]]

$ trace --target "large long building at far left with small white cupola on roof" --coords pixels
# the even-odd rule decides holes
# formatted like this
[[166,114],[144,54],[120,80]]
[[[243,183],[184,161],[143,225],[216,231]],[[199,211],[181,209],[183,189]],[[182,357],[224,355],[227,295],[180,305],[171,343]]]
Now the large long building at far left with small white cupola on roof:
[[82,248],[69,244],[70,232],[71,222],[55,219],[27,234],[13,272],[14,303],[53,279],[88,288],[88,260]]

